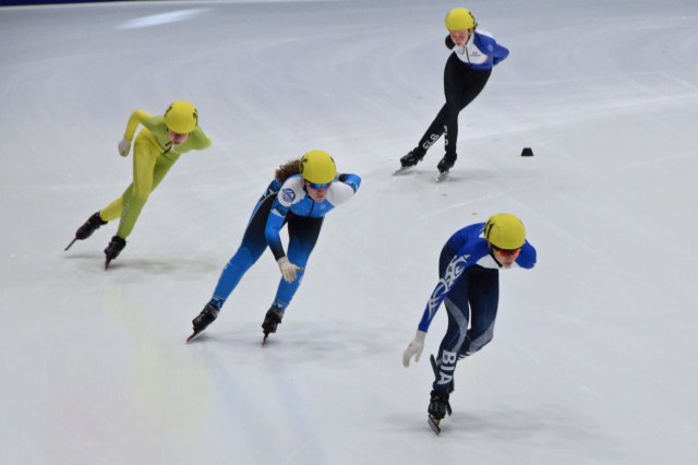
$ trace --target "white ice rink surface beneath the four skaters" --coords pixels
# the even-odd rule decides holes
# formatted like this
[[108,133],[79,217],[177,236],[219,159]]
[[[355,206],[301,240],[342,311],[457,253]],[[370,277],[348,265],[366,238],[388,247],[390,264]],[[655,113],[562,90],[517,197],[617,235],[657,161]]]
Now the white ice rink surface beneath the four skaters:
[[[443,19],[512,51],[438,142]],[[698,463],[698,2],[125,2],[0,9],[0,461],[5,464]],[[104,271],[136,108],[190,99],[183,155]],[[520,157],[530,146],[534,156]],[[279,164],[357,172],[279,332],[270,253],[184,344]],[[538,249],[501,274],[495,337],[426,425],[411,341],[456,229],[514,212]]]

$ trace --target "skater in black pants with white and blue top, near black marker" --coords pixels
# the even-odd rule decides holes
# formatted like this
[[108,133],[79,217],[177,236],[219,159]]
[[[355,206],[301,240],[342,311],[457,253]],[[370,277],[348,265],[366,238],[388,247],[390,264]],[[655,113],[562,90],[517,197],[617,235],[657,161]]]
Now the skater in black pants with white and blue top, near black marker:
[[445,24],[446,47],[453,50],[444,69],[446,103],[417,147],[400,158],[400,171],[421,162],[429,147],[444,135],[446,154],[437,168],[442,175],[448,172],[458,157],[458,115],[482,92],[492,68],[509,56],[509,50],[497,44],[492,34],[478,28],[468,9],[454,8],[446,15]]

